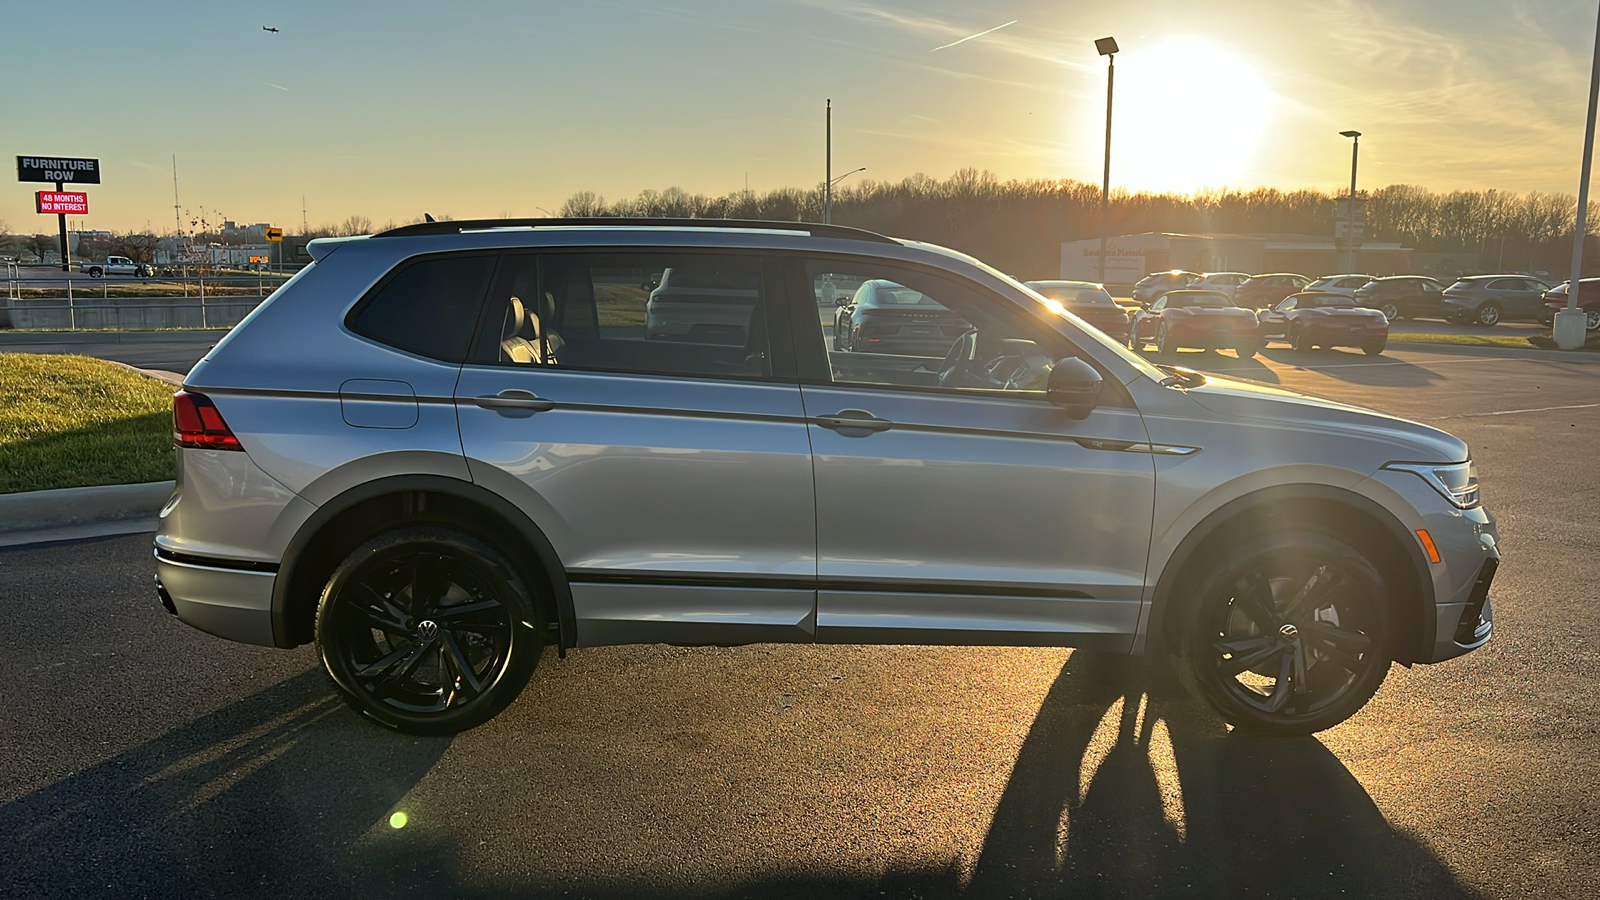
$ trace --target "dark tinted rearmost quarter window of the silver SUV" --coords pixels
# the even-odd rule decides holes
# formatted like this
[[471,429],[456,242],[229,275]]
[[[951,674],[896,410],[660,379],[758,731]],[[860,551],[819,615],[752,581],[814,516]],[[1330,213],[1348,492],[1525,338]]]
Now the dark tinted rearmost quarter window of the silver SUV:
[[493,255],[430,256],[402,263],[346,325],[365,338],[443,362],[464,362]]

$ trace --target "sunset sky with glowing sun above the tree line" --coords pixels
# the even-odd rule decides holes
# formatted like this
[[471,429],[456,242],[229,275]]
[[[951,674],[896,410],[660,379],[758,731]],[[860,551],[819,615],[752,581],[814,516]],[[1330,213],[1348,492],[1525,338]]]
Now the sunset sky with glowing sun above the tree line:
[[[5,18],[0,152],[99,157],[85,226],[118,231],[171,231],[174,154],[186,210],[290,231],[302,195],[315,226],[814,186],[826,98],[834,171],[867,167],[853,179],[1098,183],[1104,35],[1122,45],[1115,186],[1338,189],[1354,128],[1365,187],[1576,192],[1595,27],[1594,0],[43,10]],[[34,211],[48,186],[5,183],[0,219],[54,231]]]

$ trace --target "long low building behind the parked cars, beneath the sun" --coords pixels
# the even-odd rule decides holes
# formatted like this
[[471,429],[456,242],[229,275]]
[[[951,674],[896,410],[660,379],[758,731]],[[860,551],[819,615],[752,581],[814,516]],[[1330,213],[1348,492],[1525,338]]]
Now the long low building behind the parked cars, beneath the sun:
[[[1099,239],[1061,245],[1061,277],[1099,280]],[[1334,275],[1346,269],[1342,242],[1314,234],[1120,234],[1106,242],[1106,283],[1131,285],[1150,272],[1298,272]],[[1398,243],[1363,242],[1357,272],[1413,272],[1411,250]]]

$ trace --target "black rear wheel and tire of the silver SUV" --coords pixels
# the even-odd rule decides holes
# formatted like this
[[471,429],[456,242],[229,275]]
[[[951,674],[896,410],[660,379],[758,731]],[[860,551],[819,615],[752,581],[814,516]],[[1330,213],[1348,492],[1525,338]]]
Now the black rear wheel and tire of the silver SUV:
[[443,525],[371,538],[317,604],[317,650],[339,695],[414,735],[462,732],[509,706],[539,663],[542,634],[515,567]]

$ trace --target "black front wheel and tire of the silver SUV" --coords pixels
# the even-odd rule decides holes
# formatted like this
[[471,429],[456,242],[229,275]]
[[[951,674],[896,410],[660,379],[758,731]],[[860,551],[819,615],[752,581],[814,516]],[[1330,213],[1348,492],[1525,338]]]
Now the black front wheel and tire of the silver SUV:
[[1394,660],[1394,597],[1347,540],[1307,527],[1224,554],[1176,610],[1182,682],[1237,729],[1309,735],[1371,700]]

